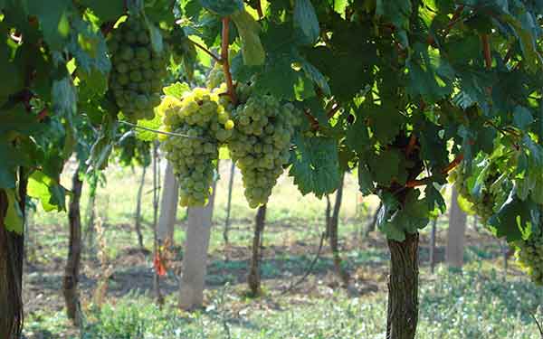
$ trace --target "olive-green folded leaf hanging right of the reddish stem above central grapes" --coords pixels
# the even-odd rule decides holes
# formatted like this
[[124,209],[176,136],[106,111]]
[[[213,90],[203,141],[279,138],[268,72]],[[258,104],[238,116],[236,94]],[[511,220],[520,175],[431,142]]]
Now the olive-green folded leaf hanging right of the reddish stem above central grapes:
[[260,25],[247,11],[233,14],[232,20],[242,39],[243,62],[248,66],[262,65],[266,53],[259,36],[261,32]]

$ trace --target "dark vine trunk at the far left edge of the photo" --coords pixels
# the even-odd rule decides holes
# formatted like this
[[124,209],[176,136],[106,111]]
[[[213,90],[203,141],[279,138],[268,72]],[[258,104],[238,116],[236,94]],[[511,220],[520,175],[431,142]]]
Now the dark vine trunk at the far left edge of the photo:
[[[25,178],[24,171],[20,177]],[[26,179],[19,181],[19,208],[26,204]],[[24,234],[6,231],[7,196],[0,190],[0,338],[19,338],[23,329]]]

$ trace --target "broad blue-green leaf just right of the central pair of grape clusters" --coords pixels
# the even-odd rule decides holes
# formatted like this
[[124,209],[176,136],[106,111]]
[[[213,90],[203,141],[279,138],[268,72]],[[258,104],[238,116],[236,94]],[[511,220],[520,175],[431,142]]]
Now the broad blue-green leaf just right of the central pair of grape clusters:
[[296,150],[289,175],[300,193],[314,193],[319,198],[333,193],[339,185],[338,146],[327,137],[294,138]]

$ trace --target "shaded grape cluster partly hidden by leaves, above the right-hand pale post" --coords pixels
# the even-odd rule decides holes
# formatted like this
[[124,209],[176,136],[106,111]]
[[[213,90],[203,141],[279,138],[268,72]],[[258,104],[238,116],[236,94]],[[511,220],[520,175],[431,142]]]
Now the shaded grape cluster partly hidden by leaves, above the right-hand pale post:
[[496,175],[490,174],[487,176],[480,196],[475,196],[470,192],[467,179],[463,163],[454,168],[449,174],[449,181],[454,183],[454,187],[456,187],[456,190],[464,199],[472,203],[473,212],[481,218],[483,224],[486,224],[492,214],[494,214],[494,207],[497,205],[496,195],[490,190],[490,186],[496,179]]

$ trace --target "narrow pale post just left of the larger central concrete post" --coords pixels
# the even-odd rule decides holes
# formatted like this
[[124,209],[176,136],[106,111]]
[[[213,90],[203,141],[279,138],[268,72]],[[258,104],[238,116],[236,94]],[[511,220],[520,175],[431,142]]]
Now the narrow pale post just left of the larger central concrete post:
[[179,199],[179,183],[176,180],[176,175],[174,175],[174,167],[169,161],[166,165],[166,174],[164,174],[163,187],[157,237],[159,244],[164,244],[167,242],[169,246],[173,246],[177,202]]

